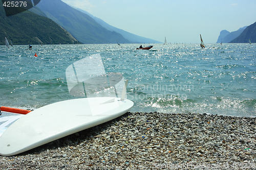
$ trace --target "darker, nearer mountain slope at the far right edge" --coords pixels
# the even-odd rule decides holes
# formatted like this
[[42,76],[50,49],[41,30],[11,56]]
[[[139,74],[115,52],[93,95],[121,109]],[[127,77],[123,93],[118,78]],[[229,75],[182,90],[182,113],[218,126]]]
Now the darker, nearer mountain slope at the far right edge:
[[247,43],[256,42],[256,22],[248,26],[237,38],[233,39],[231,43]]

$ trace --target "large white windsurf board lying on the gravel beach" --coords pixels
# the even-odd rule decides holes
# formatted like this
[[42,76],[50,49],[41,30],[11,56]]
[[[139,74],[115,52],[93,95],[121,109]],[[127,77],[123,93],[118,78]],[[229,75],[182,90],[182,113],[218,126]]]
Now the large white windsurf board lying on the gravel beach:
[[0,137],[0,155],[12,156],[108,122],[129,111],[120,98],[83,98],[53,103],[17,119]]

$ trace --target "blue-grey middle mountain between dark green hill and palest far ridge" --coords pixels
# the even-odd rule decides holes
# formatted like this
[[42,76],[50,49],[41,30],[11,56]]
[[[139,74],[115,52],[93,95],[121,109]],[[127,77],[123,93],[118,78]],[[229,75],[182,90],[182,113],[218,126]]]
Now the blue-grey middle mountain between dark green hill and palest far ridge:
[[[44,0],[35,8],[70,32],[82,43],[131,43],[121,34],[103,28],[89,15],[84,14],[60,0]],[[37,13],[38,14],[38,13]]]

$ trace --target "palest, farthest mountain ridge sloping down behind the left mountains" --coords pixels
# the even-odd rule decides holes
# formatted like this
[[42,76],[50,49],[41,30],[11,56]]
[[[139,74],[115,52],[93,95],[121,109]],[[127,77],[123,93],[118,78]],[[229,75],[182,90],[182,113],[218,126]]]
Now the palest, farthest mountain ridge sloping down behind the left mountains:
[[[115,31],[119,34],[121,34],[124,38],[126,38],[127,40],[131,41],[132,43],[162,43],[160,41],[156,41],[150,38],[145,38],[145,37],[141,37],[132,33],[129,33],[127,31],[118,29],[116,27],[113,27],[111,25],[109,25],[108,23],[106,23],[105,21],[103,21],[100,18],[97,18],[95,16],[93,16],[92,14],[90,14],[87,11],[84,11],[82,9],[76,8],[78,11],[81,11],[87,15],[89,15],[90,17],[92,17],[96,22],[98,22],[102,27],[104,27],[105,29],[109,30],[109,31]],[[120,41],[119,41],[120,42]]]

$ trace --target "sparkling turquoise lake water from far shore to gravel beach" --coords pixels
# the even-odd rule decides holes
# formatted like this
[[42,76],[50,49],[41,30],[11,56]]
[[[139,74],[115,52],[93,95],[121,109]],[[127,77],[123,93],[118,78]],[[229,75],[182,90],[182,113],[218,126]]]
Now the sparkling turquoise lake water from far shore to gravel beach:
[[139,45],[33,45],[31,51],[28,45],[2,45],[0,105],[36,109],[74,99],[66,68],[99,53],[106,72],[120,72],[129,80],[132,112],[256,116],[255,43],[205,44],[205,49],[151,44],[151,50],[136,50]]

